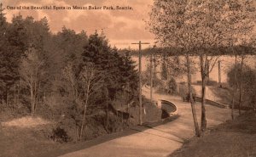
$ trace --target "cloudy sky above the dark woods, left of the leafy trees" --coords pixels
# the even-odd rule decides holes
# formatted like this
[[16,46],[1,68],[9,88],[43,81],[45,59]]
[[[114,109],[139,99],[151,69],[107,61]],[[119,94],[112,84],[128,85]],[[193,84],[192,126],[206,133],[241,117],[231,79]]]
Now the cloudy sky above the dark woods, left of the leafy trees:
[[[11,21],[14,14],[32,16],[35,20],[46,17],[50,31],[61,31],[65,25],[74,31],[86,31],[88,35],[96,30],[104,31],[112,46],[117,48],[137,48],[131,42],[150,42],[154,45],[154,35],[147,29],[150,6],[154,0],[0,0],[6,17]],[[7,9],[19,6],[131,6],[132,10],[26,10]]]

